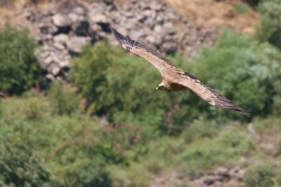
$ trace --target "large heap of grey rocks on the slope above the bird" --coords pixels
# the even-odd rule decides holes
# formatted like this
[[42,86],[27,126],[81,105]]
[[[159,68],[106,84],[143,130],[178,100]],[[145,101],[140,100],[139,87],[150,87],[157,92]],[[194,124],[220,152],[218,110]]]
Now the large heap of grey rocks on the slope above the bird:
[[87,43],[107,38],[117,44],[110,26],[167,54],[192,55],[202,45],[212,45],[215,35],[213,30],[188,22],[161,0],[66,1],[38,14],[27,12],[27,19],[39,29],[39,61],[51,79],[64,74],[70,68],[70,57],[81,53]]

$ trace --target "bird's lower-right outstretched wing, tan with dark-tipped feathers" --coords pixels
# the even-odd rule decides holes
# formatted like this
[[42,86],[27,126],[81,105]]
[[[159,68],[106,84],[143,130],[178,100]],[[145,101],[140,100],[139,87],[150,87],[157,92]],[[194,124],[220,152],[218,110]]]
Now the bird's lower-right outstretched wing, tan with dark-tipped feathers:
[[195,76],[185,73],[178,76],[175,81],[177,84],[183,85],[186,88],[192,90],[192,92],[195,92],[197,96],[213,106],[217,106],[221,109],[231,109],[234,111],[238,111],[247,117],[251,116],[251,113],[240,108],[239,106],[236,106],[233,102],[230,101],[230,99],[224,97],[213,88],[204,85],[203,83],[201,83],[201,81],[195,78]]

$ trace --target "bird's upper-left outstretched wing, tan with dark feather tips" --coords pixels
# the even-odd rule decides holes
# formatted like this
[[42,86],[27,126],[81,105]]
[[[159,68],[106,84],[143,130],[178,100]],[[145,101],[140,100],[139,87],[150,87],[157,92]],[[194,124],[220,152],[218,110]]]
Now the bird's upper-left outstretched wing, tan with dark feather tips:
[[[158,69],[158,71],[160,71],[162,75],[164,74],[166,69],[176,69],[174,64],[172,64],[161,54],[157,53],[155,50],[152,50],[148,46],[138,43],[137,41],[133,41],[132,39],[126,38],[112,27],[110,27],[110,29],[123,48],[129,50],[134,55],[142,57],[143,59],[150,62],[154,67]],[[178,71],[181,70],[178,69]]]

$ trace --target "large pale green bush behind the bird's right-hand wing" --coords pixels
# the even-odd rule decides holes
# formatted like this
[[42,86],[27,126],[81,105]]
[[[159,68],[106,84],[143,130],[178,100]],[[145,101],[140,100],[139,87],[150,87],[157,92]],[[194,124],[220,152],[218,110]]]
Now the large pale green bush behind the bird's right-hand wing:
[[[280,111],[281,53],[268,44],[258,43],[242,34],[226,31],[194,60],[190,71],[202,82],[226,95],[238,106],[249,110],[253,116],[266,116]],[[250,88],[250,89],[249,89]],[[189,99],[200,111],[207,108],[197,98]],[[218,113],[218,111],[221,111]],[[227,110],[209,107],[209,116],[236,116]],[[239,116],[238,116],[239,115]]]

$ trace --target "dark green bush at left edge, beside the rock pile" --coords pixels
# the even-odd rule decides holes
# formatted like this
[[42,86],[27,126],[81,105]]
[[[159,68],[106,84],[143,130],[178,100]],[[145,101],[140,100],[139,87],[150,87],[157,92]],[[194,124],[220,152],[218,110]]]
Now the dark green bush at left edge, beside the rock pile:
[[41,70],[34,55],[36,44],[27,30],[6,25],[0,32],[0,90],[20,94],[40,82]]

